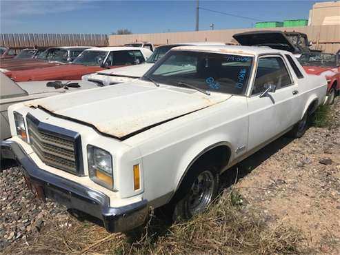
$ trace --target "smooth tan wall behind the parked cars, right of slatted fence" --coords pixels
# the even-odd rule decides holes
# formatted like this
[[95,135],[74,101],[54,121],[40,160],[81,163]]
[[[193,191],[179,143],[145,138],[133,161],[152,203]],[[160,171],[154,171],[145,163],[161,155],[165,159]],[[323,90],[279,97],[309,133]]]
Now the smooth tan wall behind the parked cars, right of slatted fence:
[[[188,43],[199,41],[233,41],[232,35],[239,32],[255,31],[257,28],[237,30],[206,30],[197,32],[169,32],[155,34],[114,34],[109,37],[109,45],[123,45],[134,41],[150,41],[155,45],[169,43]],[[308,35],[312,48],[324,52],[337,52],[340,49],[340,26],[303,26],[294,28],[268,28],[261,30],[297,31]]]

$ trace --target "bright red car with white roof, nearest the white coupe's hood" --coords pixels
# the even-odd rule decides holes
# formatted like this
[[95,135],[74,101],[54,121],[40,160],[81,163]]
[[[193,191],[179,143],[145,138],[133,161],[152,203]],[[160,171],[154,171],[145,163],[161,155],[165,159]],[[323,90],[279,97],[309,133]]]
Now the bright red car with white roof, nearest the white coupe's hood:
[[146,48],[106,47],[84,50],[72,63],[34,70],[6,72],[14,81],[80,80],[106,68],[143,63],[152,54]]

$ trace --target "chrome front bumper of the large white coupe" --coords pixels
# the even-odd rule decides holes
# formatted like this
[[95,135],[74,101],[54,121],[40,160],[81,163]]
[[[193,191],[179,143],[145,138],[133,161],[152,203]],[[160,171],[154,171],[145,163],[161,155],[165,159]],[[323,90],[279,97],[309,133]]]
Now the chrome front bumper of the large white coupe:
[[[108,232],[127,232],[142,225],[148,216],[148,201],[143,200],[123,207],[110,207],[110,198],[61,176],[39,168],[24,152],[19,143],[0,142],[3,159],[16,159],[23,168],[28,187],[41,198],[48,197],[69,209],[79,210],[103,221]],[[41,194],[42,192],[42,194]]]

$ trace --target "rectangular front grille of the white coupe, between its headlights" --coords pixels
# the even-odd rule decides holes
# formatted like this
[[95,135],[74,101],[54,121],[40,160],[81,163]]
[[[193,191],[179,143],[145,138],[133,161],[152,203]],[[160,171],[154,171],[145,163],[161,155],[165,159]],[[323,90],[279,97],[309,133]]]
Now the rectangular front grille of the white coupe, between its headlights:
[[39,121],[33,118],[27,118],[28,135],[30,145],[41,161],[72,174],[79,174],[74,137],[43,130],[39,127]]

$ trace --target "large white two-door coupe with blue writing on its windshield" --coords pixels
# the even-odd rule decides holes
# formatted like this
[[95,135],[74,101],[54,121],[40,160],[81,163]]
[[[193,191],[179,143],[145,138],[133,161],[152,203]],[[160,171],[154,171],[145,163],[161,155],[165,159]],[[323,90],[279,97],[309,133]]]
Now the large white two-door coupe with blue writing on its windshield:
[[302,136],[326,88],[290,52],[177,47],[128,85],[12,105],[1,150],[40,198],[126,232],[149,207],[204,210],[221,172],[286,132]]

